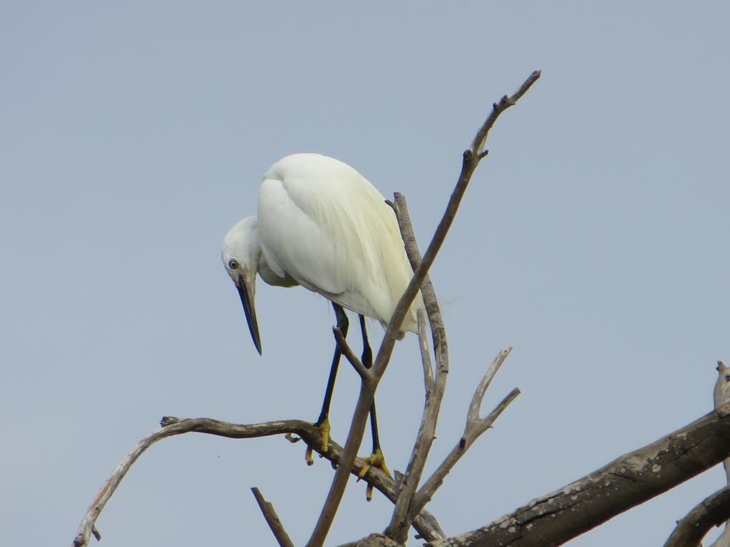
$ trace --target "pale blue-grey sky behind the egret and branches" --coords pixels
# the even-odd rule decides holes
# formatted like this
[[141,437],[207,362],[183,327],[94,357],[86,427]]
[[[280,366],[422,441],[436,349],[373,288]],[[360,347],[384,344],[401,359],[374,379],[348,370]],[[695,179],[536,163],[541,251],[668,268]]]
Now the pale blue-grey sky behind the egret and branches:
[[[68,545],[163,415],[315,419],[328,303],[258,284],[258,357],[220,264],[261,174],[291,152],[345,160],[407,195],[425,246],[461,151],[534,69],[434,266],[451,373],[430,467],[503,346],[486,406],[523,395],[429,509],[473,529],[705,414],[730,360],[729,18],[721,1],[3,2],[6,543]],[[378,392],[391,468],[420,374],[409,336]],[[340,376],[337,441],[356,394]],[[250,486],[304,543],[332,470],[303,457],[281,438],[164,441],[101,516],[102,545],[274,545]],[[712,470],[570,545],[661,544],[722,484]],[[390,511],[351,484],[331,544]]]

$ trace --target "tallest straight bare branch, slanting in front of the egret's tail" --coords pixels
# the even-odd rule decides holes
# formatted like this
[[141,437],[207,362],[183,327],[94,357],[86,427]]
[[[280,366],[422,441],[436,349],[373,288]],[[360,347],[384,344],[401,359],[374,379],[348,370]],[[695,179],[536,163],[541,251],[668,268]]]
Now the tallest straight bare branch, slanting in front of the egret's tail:
[[[355,461],[358,448],[362,442],[369,408],[375,397],[375,389],[377,388],[377,384],[380,382],[380,379],[383,377],[383,373],[385,373],[385,367],[388,366],[388,362],[391,359],[393,346],[396,343],[396,338],[400,332],[405,314],[410,309],[411,303],[420,290],[423,279],[426,277],[426,274],[428,274],[429,268],[431,268],[439,249],[441,249],[451,223],[453,222],[454,217],[456,217],[456,211],[461,203],[461,198],[464,197],[466,187],[469,185],[472,174],[483,157],[479,152],[481,150],[480,147],[483,147],[488,131],[492,125],[494,125],[497,117],[499,117],[504,110],[515,104],[515,102],[523,96],[524,93],[526,93],[531,85],[533,85],[534,82],[537,82],[539,77],[539,71],[534,71],[512,97],[504,96],[499,103],[495,103],[493,105],[491,115],[489,115],[486,122],[477,133],[477,137],[475,137],[474,143],[476,143],[477,146],[475,147],[475,144],[472,143],[472,149],[464,152],[461,175],[459,176],[456,188],[451,194],[446,211],[441,222],[439,222],[428,249],[426,249],[426,254],[423,255],[423,260],[420,261],[418,268],[414,271],[408,287],[406,287],[406,290],[403,292],[403,295],[401,295],[396,308],[393,310],[393,316],[391,317],[390,322],[388,322],[388,327],[385,328],[385,335],[383,336],[383,341],[380,344],[380,349],[378,349],[377,356],[375,357],[372,367],[373,379],[372,381],[369,379],[364,379],[362,381],[360,395],[358,396],[355,413],[353,414],[353,421],[350,424],[350,431],[347,434],[347,441],[345,442],[345,452],[342,454],[342,465],[334,473],[334,479],[332,480],[332,484],[320,513],[320,517],[315,525],[315,529],[312,532],[310,540],[307,542],[307,547],[321,547],[324,544],[324,540],[332,525],[332,521],[334,520],[334,515],[337,513],[339,503],[342,501],[342,496],[345,494],[349,469]],[[434,333],[434,337],[435,336],[436,333]]]

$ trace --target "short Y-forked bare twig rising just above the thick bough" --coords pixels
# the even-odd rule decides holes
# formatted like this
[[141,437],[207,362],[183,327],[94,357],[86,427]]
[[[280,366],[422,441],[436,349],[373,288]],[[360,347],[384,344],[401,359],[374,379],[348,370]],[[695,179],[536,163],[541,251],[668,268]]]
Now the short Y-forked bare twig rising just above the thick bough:
[[512,389],[512,391],[507,394],[507,397],[504,397],[504,399],[502,399],[502,401],[494,407],[493,411],[484,418],[480,418],[479,408],[482,406],[486,389],[493,376],[497,371],[499,371],[499,367],[502,366],[502,362],[507,359],[507,355],[510,354],[511,350],[512,348],[505,348],[499,352],[492,362],[492,365],[488,368],[488,371],[485,373],[479,387],[477,387],[474,397],[472,397],[472,402],[469,404],[469,413],[466,418],[464,435],[461,436],[461,439],[459,439],[458,443],[456,443],[456,446],[451,449],[444,461],[441,462],[441,465],[439,465],[423,486],[418,489],[418,492],[416,492],[410,505],[410,518],[415,517],[415,515],[423,510],[426,503],[429,503],[431,497],[433,497],[437,489],[439,489],[439,486],[443,484],[444,478],[446,478],[446,476],[450,473],[453,466],[456,465],[456,462],[458,462],[458,460],[466,454],[469,447],[472,446],[474,441],[476,441],[483,432],[492,427],[492,424],[496,422],[496,419],[499,418],[499,415],[502,414],[504,409],[507,408],[507,406],[509,406],[518,395],[520,395],[520,390],[515,387],[515,389]]

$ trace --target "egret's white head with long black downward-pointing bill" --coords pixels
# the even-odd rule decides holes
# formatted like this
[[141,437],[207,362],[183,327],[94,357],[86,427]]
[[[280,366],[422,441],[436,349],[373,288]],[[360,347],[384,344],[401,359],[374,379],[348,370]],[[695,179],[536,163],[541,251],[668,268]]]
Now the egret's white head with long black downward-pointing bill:
[[223,240],[223,251],[220,253],[220,257],[241,297],[248,330],[253,338],[253,345],[256,346],[256,351],[260,355],[261,335],[258,334],[254,303],[258,259],[261,257],[256,217],[245,218],[228,231]]

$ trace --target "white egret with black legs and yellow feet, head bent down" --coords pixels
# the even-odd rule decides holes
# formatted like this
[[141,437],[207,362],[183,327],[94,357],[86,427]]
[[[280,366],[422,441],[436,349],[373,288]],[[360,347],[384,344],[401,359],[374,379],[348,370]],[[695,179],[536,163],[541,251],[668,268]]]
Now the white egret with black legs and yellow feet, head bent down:
[[[264,175],[258,217],[247,217],[226,234],[223,264],[238,289],[256,350],[261,336],[254,306],[256,274],[279,287],[301,285],[331,301],[337,327],[347,335],[342,308],[360,317],[363,364],[372,365],[365,317],[387,325],[413,275],[395,214],[355,169],[318,154],[294,154]],[[420,295],[401,325],[418,332]],[[326,449],[329,404],[340,352],[335,345],[322,411],[315,425]],[[374,465],[384,470],[374,404],[371,408]]]

